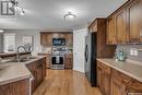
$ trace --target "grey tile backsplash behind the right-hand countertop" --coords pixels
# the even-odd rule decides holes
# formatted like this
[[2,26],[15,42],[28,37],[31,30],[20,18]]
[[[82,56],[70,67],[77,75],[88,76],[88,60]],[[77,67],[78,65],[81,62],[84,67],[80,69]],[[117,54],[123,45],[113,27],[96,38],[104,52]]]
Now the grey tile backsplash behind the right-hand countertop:
[[[128,59],[142,62],[142,45],[118,45],[117,49],[119,49],[119,48],[125,50]],[[130,50],[132,48],[141,49],[141,50],[138,50],[138,56],[130,55]]]

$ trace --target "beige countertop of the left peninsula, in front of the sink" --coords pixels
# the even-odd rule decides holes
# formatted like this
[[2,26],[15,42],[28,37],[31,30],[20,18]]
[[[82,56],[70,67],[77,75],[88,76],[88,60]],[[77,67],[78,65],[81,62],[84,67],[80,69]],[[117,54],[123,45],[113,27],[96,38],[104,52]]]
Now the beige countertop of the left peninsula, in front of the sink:
[[26,62],[3,62],[0,63],[0,85],[15,82],[19,80],[32,78],[32,73],[26,64],[43,59],[45,56],[38,56]]

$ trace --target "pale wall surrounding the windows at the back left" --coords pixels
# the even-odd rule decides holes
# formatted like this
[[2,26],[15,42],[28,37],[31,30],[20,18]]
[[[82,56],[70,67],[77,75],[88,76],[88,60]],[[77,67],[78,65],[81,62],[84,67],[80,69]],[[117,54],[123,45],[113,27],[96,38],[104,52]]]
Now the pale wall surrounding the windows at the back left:
[[4,31],[4,33],[15,33],[15,46],[22,45],[22,36],[31,35],[34,37],[34,51],[33,55],[42,51],[40,46],[40,34],[38,29],[9,29]]

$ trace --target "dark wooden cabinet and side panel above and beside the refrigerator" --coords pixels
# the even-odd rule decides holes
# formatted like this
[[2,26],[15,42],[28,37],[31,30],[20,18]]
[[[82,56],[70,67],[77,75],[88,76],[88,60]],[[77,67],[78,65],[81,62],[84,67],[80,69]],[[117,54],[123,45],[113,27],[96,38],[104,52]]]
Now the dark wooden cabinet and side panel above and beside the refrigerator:
[[90,26],[88,31],[92,32],[92,28],[96,25],[96,29],[93,32],[96,33],[96,57],[97,58],[111,58],[114,57],[116,47],[114,45],[107,45],[107,34],[106,34],[106,19],[96,19]]

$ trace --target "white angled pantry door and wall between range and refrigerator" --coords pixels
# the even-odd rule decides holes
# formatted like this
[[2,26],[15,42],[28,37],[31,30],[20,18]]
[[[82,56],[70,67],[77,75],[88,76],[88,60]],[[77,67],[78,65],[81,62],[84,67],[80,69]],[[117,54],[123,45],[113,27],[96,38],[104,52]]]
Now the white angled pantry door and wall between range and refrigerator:
[[73,31],[73,70],[84,72],[85,36],[87,29]]

